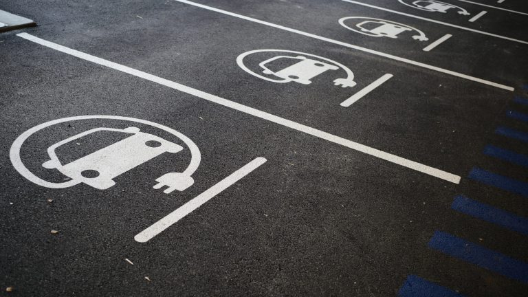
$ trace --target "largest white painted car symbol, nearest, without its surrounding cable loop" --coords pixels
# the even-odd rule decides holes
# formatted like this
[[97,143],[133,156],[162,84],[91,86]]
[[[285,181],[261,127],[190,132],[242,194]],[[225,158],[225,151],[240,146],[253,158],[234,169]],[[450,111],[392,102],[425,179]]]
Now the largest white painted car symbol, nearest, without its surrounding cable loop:
[[[115,142],[100,150],[80,157],[74,162],[61,164],[56,155],[56,148],[79,139],[85,135],[98,131],[115,131],[129,133],[119,142]],[[67,138],[53,144],[47,149],[50,160],[43,163],[45,168],[56,168],[63,175],[94,188],[104,190],[115,184],[114,177],[147,162],[162,153],[178,153],[183,147],[164,140],[161,137],[140,132],[140,129],[129,127],[126,129],[96,128]]]

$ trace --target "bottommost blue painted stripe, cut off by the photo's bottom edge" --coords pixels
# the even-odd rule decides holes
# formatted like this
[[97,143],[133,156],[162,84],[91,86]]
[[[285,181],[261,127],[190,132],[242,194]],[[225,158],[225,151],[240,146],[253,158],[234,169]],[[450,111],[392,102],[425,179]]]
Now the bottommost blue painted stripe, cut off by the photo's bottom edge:
[[451,291],[430,281],[426,281],[415,275],[407,276],[405,283],[398,292],[399,297],[463,297],[463,295]]

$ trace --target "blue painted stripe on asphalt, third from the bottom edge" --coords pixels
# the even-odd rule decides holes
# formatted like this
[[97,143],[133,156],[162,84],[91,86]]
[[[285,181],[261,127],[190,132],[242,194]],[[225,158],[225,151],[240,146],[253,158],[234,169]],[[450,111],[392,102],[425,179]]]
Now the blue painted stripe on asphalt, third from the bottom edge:
[[469,214],[472,217],[489,221],[489,223],[495,223],[509,230],[528,235],[528,219],[519,217],[511,212],[494,208],[462,195],[454,197],[451,208]]

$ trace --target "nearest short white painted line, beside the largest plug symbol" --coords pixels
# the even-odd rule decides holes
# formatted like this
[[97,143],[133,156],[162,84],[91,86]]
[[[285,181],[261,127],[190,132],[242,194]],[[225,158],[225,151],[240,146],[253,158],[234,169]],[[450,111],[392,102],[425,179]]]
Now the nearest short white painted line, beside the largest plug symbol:
[[177,208],[175,211],[170,212],[170,214],[167,214],[164,218],[153,223],[153,225],[138,233],[136,236],[134,236],[135,241],[144,243],[153,239],[154,236],[163,232],[163,230],[169,228],[171,225],[174,225],[177,221],[183,219],[187,214],[190,214],[193,210],[196,210],[197,208],[202,206],[203,203],[206,203],[207,201],[212,199],[212,197],[218,195],[221,191],[225,190],[226,188],[229,188],[232,184],[236,183],[236,181],[239,181],[246,175],[250,174],[253,170],[259,168],[259,166],[261,166],[265,162],[265,158],[257,157],[252,162],[245,164],[245,166],[243,166],[239,170],[236,170],[234,173],[231,173],[231,175],[229,175],[228,177],[225,177],[225,179],[219,181],[218,184],[215,184],[214,186],[208,188],[208,190],[206,190],[205,192],[202,192],[197,197],[191,199],[184,205]]

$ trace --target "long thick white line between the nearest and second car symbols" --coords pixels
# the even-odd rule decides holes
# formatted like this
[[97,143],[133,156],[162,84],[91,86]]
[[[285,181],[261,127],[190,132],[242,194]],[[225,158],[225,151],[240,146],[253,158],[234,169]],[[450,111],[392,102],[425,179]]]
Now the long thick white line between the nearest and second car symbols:
[[224,98],[221,98],[219,96],[214,96],[211,94],[208,94],[204,91],[199,91],[197,89],[193,89],[192,87],[187,87],[186,85],[181,85],[179,83],[175,83],[170,80],[166,80],[165,78],[160,78],[159,76],[153,76],[152,74],[148,74],[146,72],[142,72],[137,69],[133,69],[131,67],[126,67],[124,65],[120,65],[118,63],[113,63],[108,60],[104,60],[102,58],[98,58],[96,56],[91,56],[89,54],[85,54],[83,52],[79,52],[77,50],[72,50],[69,47],[65,47],[63,45],[58,45],[56,43],[52,43],[50,41],[45,41],[44,39],[39,39],[39,37],[32,36],[28,33],[20,33],[17,34],[17,36],[22,37],[23,39],[28,39],[29,41],[33,41],[34,43],[39,43],[40,45],[44,45],[45,47],[50,47],[54,50],[57,50],[59,52],[63,52],[65,54],[69,54],[72,56],[75,56],[77,58],[81,58],[86,61],[90,61],[92,63],[96,63],[102,66],[106,66],[115,70],[118,70],[120,72],[124,72],[126,74],[131,74],[133,76],[137,76],[139,78],[143,78],[145,80],[150,80],[153,83],[157,83],[159,85],[164,85],[166,87],[170,87],[172,89],[177,89],[178,91],[182,91],[184,93],[190,94],[192,96],[197,96],[199,98],[208,100],[210,102],[214,102],[220,105],[223,105],[224,107],[228,107],[230,109],[234,109],[237,111],[241,111],[243,113],[248,113],[250,115],[254,115],[257,118],[261,118],[263,120],[268,120],[270,122],[274,122],[276,124],[280,124],[282,126],[287,126],[288,128],[307,133],[309,135],[313,135],[315,137],[319,137],[323,140],[327,140],[329,142],[333,142],[335,144],[340,144],[342,146],[346,146],[348,148],[352,148],[355,151],[360,151],[362,153],[366,153],[367,155],[371,155],[373,157],[378,157],[380,159],[384,159],[388,162],[392,162],[394,164],[398,164],[413,170],[417,170],[421,173],[425,173],[427,175],[432,175],[434,177],[438,177],[439,179],[444,179],[446,181],[450,181],[454,184],[459,184],[460,177],[458,175],[454,175],[452,173],[447,173],[443,170],[439,170],[437,168],[432,168],[430,166],[426,166],[423,164],[420,164],[418,162],[411,161],[409,159],[404,159],[402,157],[398,157],[397,155],[393,155],[391,153],[385,153],[384,151],[377,150],[376,148],[371,148],[369,146],[366,146],[364,144],[359,144],[358,142],[353,142],[351,140],[346,140],[342,137],[320,131],[318,129],[311,128],[309,126],[305,126],[303,124],[299,124],[298,122],[294,122],[291,120],[286,120],[285,118],[278,117],[276,115],[272,115],[271,113],[266,113],[264,111],[259,111],[259,109],[254,109],[252,107],[245,106],[240,103],[236,103]]

